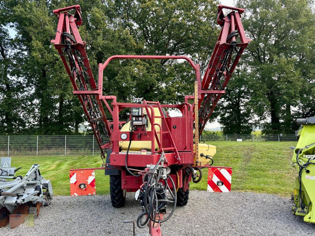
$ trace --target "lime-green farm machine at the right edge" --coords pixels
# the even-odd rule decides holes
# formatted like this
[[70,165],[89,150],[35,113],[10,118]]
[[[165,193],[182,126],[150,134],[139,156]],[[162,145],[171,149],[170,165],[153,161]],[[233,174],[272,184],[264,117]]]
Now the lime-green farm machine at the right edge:
[[304,216],[304,221],[315,223],[315,117],[297,119],[303,128],[297,132],[292,166],[298,171],[295,179],[292,212]]

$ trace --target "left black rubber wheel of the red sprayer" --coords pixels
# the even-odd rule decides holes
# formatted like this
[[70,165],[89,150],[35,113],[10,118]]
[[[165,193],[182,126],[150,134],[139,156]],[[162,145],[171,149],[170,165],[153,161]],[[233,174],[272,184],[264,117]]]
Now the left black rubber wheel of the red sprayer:
[[123,207],[126,202],[126,189],[121,189],[121,173],[109,176],[109,189],[113,207]]

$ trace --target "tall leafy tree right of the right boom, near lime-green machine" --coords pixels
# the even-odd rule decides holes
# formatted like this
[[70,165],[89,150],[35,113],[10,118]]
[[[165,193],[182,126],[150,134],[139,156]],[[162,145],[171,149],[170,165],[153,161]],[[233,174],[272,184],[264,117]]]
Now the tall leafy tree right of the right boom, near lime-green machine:
[[314,58],[308,49],[311,42],[305,39],[315,33],[312,3],[306,0],[237,2],[246,8],[243,26],[253,39],[245,53],[251,71],[250,102],[265,133],[292,133],[295,108],[306,102],[300,95],[310,92],[307,77],[312,77],[312,72],[303,73],[303,67],[306,69],[303,61],[305,57]]

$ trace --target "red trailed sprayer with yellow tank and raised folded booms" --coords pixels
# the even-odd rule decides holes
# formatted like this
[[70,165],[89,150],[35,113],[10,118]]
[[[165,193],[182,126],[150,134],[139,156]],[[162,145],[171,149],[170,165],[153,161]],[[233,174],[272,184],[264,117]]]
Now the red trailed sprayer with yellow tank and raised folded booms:
[[[224,8],[231,10],[226,16]],[[240,19],[243,12],[241,8],[218,6],[216,20],[221,32],[203,79],[199,64],[186,56],[115,55],[98,65],[95,81],[86,42],[78,31],[83,23],[80,6],[54,10],[59,22],[56,37],[51,42],[66,67],[73,94],[78,96],[92,126],[101,157],[106,160],[98,169],[104,168],[105,174],[110,175],[112,205],[122,207],[126,192],[135,192],[135,199],[143,209],[137,226],[148,225],[151,235],[161,235],[160,223],[169,219],[176,205],[187,204],[190,181],[200,181],[201,168],[213,164],[215,147],[199,143],[198,137],[250,42]],[[185,96],[184,103],[174,105],[146,100],[142,104],[119,103],[116,96],[103,94],[103,72],[113,59],[184,59],[196,73],[192,81],[194,96]],[[130,110],[127,121],[119,118],[119,113],[125,109]],[[171,117],[167,109],[178,109],[181,116]],[[74,195],[82,195],[93,182],[81,183],[75,176],[76,171],[84,169],[70,172],[71,183],[77,184]],[[93,179],[93,176],[92,171],[88,178]]]

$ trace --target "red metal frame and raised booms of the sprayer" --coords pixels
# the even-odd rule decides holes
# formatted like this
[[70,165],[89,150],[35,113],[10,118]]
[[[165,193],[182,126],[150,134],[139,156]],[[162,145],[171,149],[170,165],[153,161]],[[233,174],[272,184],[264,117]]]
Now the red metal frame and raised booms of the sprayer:
[[[224,15],[223,9],[232,10]],[[74,14],[67,11],[74,10]],[[73,94],[77,95],[83,110],[92,126],[95,138],[101,150],[102,158],[106,158],[105,167],[111,166],[121,171],[122,189],[136,191],[142,184],[142,177],[129,175],[125,168],[126,153],[119,150],[121,138],[121,126],[125,121],[119,120],[119,112],[124,108],[141,107],[146,110],[148,120],[152,124],[151,130],[145,135],[141,130],[130,132],[127,137],[133,141],[151,141],[151,153],[133,154],[128,156],[127,166],[132,170],[144,170],[147,165],[157,164],[161,154],[165,156],[164,167],[172,167],[175,171],[170,174],[175,186],[186,191],[189,188],[192,174],[187,174],[185,169],[194,165],[193,136],[194,136],[194,106],[189,100],[196,97],[198,100],[198,131],[202,133],[209,117],[221,95],[225,93],[225,87],[240,59],[244,49],[250,42],[246,38],[240,20],[244,9],[232,8],[223,5],[218,7],[217,23],[221,26],[219,38],[215,44],[206,73],[201,79],[200,66],[185,56],[143,56],[143,55],[114,55],[108,58],[104,64],[98,65],[98,80],[95,81],[89,59],[86,53],[86,42],[79,34],[78,27],[82,24],[81,8],[79,5],[54,10],[59,18],[56,37],[51,40],[66,67],[66,71],[73,85]],[[239,36],[237,39],[236,37]],[[236,41],[237,40],[237,41]],[[108,63],[113,59],[185,59],[196,72],[197,87],[195,96],[185,96],[182,104],[160,104],[158,101],[149,102],[143,100],[142,104],[119,103],[116,96],[103,95],[103,72]],[[192,81],[193,83],[194,81]],[[110,102],[112,101],[112,102]],[[105,105],[105,109],[103,107]],[[159,114],[154,113],[154,108]],[[181,117],[170,117],[163,113],[164,108],[177,108],[181,111]],[[105,112],[107,110],[107,113]],[[106,114],[110,117],[106,117]],[[165,115],[160,115],[165,114]],[[197,113],[196,113],[197,114]],[[155,123],[155,118],[161,118],[161,124]],[[156,127],[159,129],[156,129]],[[176,128],[172,128],[176,127]],[[159,131],[158,131],[159,130]],[[198,133],[197,133],[198,136]],[[158,148],[155,147],[155,140]],[[196,148],[198,149],[198,148]],[[196,155],[198,156],[198,155]],[[197,163],[197,161],[196,161]],[[197,163],[198,164],[198,163]],[[205,166],[209,167],[209,166]]]

